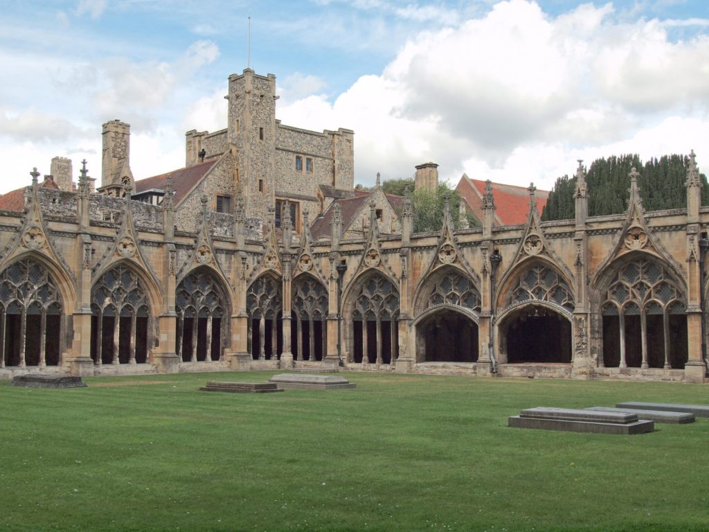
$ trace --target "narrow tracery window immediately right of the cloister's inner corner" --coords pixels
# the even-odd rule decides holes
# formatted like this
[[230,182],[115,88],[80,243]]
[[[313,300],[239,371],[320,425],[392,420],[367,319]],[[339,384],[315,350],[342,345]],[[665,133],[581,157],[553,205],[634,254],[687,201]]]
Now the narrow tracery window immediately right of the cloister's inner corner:
[[[293,314],[296,327],[294,357],[296,360],[320,360],[327,353],[325,318],[328,316],[328,291],[311,275],[300,275],[293,283]],[[307,336],[307,338],[303,338]],[[307,341],[306,341],[307,340]]]

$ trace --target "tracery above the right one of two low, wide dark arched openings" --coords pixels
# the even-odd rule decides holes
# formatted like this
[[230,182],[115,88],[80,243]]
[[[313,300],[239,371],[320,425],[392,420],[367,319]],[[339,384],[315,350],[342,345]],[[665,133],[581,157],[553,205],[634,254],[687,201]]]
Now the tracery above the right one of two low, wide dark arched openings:
[[574,297],[569,285],[561,275],[545,265],[532,265],[519,275],[507,297],[506,306],[530,299],[549,301],[574,311]]

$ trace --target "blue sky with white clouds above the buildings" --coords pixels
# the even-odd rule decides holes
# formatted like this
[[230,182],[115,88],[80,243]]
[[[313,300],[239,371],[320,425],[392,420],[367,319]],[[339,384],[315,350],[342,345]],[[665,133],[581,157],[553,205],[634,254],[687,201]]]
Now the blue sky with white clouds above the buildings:
[[355,182],[549,188],[577,159],[697,152],[709,170],[709,2],[21,0],[0,18],[0,193],[55,155],[101,175],[131,124],[136,179],[226,126],[227,77],[277,76],[277,118],[355,131]]

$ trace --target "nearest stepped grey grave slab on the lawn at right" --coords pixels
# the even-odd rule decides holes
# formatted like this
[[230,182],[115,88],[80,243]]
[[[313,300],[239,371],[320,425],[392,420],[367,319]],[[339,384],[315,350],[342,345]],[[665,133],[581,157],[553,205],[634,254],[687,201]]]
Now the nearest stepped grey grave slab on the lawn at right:
[[629,412],[605,412],[585,409],[561,409],[537,406],[508,418],[508,426],[541,428],[600,434],[642,434],[654,431],[654,421],[640,420]]

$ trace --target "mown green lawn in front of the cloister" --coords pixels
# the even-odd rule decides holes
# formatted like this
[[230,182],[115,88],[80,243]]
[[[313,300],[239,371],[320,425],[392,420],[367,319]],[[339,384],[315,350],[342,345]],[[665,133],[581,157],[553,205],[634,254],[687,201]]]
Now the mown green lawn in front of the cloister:
[[[709,419],[639,436],[508,428],[530,406],[709,403],[709,387],[274,372],[0,385],[0,530],[708,530]],[[4,383],[3,383],[4,384]]]

